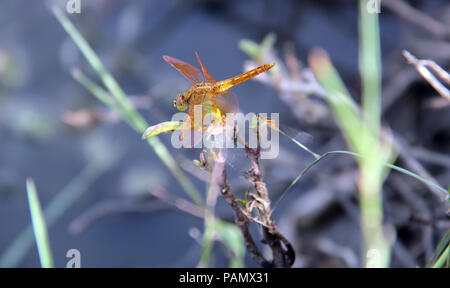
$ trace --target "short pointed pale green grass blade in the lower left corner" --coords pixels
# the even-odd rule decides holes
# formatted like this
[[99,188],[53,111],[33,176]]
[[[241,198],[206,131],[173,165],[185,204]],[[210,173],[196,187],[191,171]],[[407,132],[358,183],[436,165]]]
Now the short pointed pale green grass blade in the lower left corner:
[[53,268],[53,257],[48,241],[47,225],[45,224],[41,204],[39,203],[36,186],[32,179],[27,179],[27,196],[41,267]]

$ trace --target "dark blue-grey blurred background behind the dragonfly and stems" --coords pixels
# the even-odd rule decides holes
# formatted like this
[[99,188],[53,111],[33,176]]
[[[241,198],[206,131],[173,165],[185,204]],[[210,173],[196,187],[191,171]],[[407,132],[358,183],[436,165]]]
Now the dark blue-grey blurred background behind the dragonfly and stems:
[[[64,5],[66,1],[56,2]],[[439,21],[450,19],[448,1],[406,2]],[[162,187],[177,197],[185,194],[140,135],[73,80],[73,68],[98,78],[49,5],[25,0],[0,3],[0,253],[30,222],[25,179],[32,177],[43,206],[63,189],[83,191],[49,230],[57,267],[65,267],[66,251],[71,248],[80,250],[83,267],[195,266],[203,220],[149,197],[149,187]],[[81,14],[69,17],[146,120],[156,124],[170,119],[175,95],[189,86],[161,55],[197,65],[194,52],[198,51],[210,73],[222,80],[243,72],[243,63],[249,59],[238,48],[239,41],[260,42],[268,33],[276,36],[274,47],[280,59],[286,45],[293,47],[303,65],[312,48],[325,49],[359,100],[357,15],[357,1],[351,0],[81,0]],[[380,14],[380,33],[383,101],[387,103],[383,119],[419,152],[438,153],[441,162],[422,163],[447,187],[449,107],[433,106],[437,93],[406,63],[401,51],[406,48],[448,67],[448,35],[435,35],[386,7]],[[345,148],[335,126],[328,124],[332,118],[308,121],[307,114],[293,113],[276,89],[248,81],[233,91],[242,110],[278,112],[282,125],[310,134],[299,137],[313,149],[323,153]],[[171,148],[170,135],[161,139],[187,170],[195,170],[190,160],[198,158],[199,151]],[[279,158],[263,161],[274,199],[311,161],[286,139],[281,139],[281,146]],[[98,168],[96,161],[106,164]],[[229,167],[236,193],[248,187],[240,176],[247,168],[242,165],[248,165],[243,163],[236,160]],[[360,265],[354,172],[351,159],[328,160],[298,183],[277,208],[275,220],[299,253],[297,266]],[[204,193],[206,184],[190,178]],[[448,229],[445,207],[436,204],[423,185],[410,184],[415,180],[398,174],[392,178],[400,182],[385,185],[385,218],[398,228],[392,265],[423,266]],[[324,184],[327,181],[329,185]],[[344,184],[333,184],[339,181]],[[75,188],[67,188],[68,183]],[[406,196],[398,192],[400,186]],[[342,192],[340,196],[330,196],[333,189]],[[425,205],[421,211],[428,213],[420,214],[425,218],[421,220],[441,221],[444,226],[411,220],[414,205],[407,198],[414,189],[418,203]],[[308,209],[311,213],[306,215]],[[232,221],[223,200],[217,211]],[[223,247],[216,245],[214,251],[213,266],[227,266]],[[34,243],[16,264],[39,266]],[[255,263],[247,259],[246,266]]]

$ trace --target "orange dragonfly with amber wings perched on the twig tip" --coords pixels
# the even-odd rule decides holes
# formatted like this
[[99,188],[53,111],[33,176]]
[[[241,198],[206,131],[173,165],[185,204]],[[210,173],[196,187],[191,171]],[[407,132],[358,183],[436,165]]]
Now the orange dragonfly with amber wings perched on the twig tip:
[[184,61],[170,56],[163,56],[167,63],[177,69],[193,84],[185,93],[178,94],[173,101],[174,108],[180,111],[185,111],[189,106],[188,120],[190,120],[191,126],[194,122],[194,106],[196,105],[202,105],[203,116],[205,116],[205,112],[218,113],[219,115],[238,112],[239,102],[237,96],[233,92],[228,91],[228,89],[269,70],[275,65],[275,63],[261,65],[241,75],[217,82],[206,70],[198,52],[195,52],[195,56],[197,56],[202,72]]

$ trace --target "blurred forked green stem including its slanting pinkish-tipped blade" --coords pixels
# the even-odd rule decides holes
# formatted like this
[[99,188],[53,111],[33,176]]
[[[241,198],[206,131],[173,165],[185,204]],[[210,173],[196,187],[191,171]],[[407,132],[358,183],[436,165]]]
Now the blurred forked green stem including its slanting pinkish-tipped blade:
[[[366,0],[361,0],[360,19],[366,19],[368,16],[365,9]],[[375,16],[378,17],[378,16]],[[377,21],[369,21],[367,25],[378,25]],[[378,37],[367,35],[369,32],[377,33],[377,27],[363,27],[360,25],[360,38],[364,45],[379,45],[376,43]],[[368,40],[367,40],[368,39]],[[376,48],[372,48],[375,49]],[[379,65],[379,55],[372,53],[371,49],[364,47],[360,50],[360,65]],[[375,51],[376,52],[376,51]],[[327,92],[327,101],[335,115],[335,118],[341,128],[345,139],[351,150],[364,155],[358,159],[359,166],[359,206],[361,210],[361,228],[363,231],[364,243],[364,266],[366,267],[387,267],[390,261],[390,242],[384,236],[383,232],[383,209],[381,190],[384,181],[384,175],[387,171],[383,167],[383,162],[392,159],[390,155],[390,146],[387,143],[380,142],[379,139],[379,91],[380,82],[377,67],[362,67],[363,86],[370,84],[374,91],[369,91],[370,87],[364,90],[366,97],[364,114],[361,116],[359,107],[352,100],[339,73],[334,68],[326,52],[316,50],[311,53],[310,66],[318,79],[319,83]],[[374,64],[375,63],[375,64]],[[373,74],[370,69],[374,69]],[[372,73],[372,74],[371,74]],[[377,86],[378,85],[378,86]],[[377,87],[374,87],[377,86]],[[393,159],[392,159],[393,160]],[[371,257],[373,252],[379,257]]]

